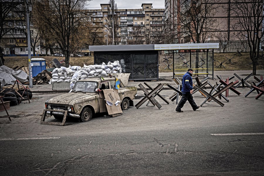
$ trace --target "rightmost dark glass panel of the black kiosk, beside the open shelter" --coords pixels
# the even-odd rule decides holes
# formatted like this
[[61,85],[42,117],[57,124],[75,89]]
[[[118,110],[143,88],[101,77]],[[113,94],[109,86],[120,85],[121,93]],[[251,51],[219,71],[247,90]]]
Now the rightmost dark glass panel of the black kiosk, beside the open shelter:
[[146,54],[146,79],[157,78],[157,54]]

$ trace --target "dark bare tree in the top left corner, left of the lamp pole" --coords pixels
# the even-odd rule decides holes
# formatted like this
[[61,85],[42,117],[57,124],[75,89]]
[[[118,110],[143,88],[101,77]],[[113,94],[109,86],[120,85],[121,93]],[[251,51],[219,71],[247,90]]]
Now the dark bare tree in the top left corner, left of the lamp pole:
[[[13,23],[18,14],[21,11],[22,0],[0,0],[0,41],[11,34],[11,31],[15,29],[14,25],[9,25]],[[4,53],[2,46],[0,47],[0,66],[4,65]]]

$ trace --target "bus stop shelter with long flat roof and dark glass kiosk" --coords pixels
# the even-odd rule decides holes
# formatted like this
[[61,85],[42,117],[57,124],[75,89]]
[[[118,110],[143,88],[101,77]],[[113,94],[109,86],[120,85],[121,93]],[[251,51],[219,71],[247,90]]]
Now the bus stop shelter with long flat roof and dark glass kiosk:
[[122,73],[131,73],[129,80],[158,80],[159,51],[172,53],[173,78],[193,68],[196,75],[214,77],[214,49],[219,43],[184,43],[154,45],[89,46],[94,53],[94,64],[119,61]]

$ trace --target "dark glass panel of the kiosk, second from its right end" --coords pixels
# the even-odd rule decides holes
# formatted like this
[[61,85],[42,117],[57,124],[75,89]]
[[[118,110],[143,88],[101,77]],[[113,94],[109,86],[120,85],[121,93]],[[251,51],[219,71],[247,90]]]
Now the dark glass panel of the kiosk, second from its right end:
[[133,57],[133,79],[145,79],[145,55],[131,54]]

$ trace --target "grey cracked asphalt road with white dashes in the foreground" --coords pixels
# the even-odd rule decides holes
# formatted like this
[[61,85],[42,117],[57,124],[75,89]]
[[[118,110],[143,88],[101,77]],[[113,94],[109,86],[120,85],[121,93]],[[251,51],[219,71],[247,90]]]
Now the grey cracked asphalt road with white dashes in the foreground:
[[[0,175],[263,175],[264,97],[238,90],[224,107],[211,101],[193,111],[187,103],[183,113],[163,90],[170,104],[156,97],[160,109],[145,102],[65,126],[40,124],[45,100],[58,93],[34,94],[11,107],[11,122],[0,119]],[[204,99],[194,94],[197,105]]]

